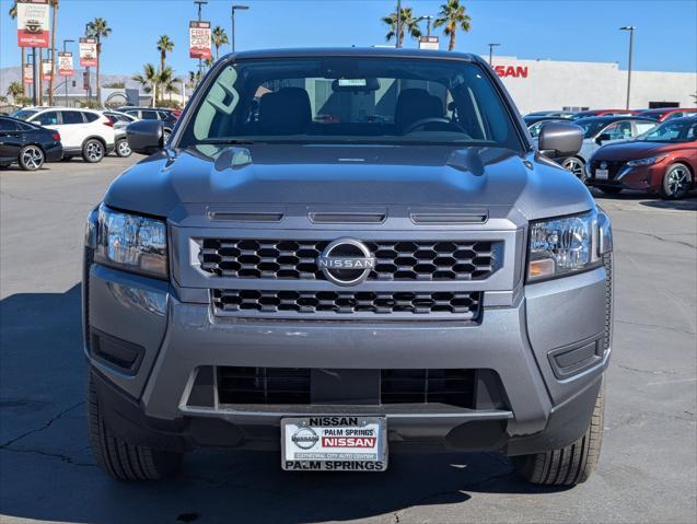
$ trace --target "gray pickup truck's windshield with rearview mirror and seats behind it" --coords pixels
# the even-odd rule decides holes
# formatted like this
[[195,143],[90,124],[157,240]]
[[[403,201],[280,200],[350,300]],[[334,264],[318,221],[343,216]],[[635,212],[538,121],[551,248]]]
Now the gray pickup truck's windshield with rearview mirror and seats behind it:
[[178,145],[241,141],[523,149],[506,103],[477,63],[414,58],[229,63],[208,85]]

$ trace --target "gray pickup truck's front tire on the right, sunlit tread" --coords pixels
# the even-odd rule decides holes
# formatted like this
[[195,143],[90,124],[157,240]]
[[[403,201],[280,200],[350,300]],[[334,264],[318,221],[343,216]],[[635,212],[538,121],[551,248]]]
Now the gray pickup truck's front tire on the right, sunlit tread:
[[591,423],[583,436],[560,450],[515,457],[519,475],[532,484],[574,486],[585,482],[601,454],[605,416],[605,385],[595,400]]

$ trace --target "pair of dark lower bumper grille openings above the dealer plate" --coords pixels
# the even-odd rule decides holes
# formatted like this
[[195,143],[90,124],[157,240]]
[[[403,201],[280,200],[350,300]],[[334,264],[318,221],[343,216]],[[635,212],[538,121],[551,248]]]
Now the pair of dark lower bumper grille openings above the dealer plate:
[[[380,404],[448,404],[474,409],[475,373],[476,370],[382,370]],[[307,368],[218,368],[220,404],[310,405],[311,385],[312,370]]]

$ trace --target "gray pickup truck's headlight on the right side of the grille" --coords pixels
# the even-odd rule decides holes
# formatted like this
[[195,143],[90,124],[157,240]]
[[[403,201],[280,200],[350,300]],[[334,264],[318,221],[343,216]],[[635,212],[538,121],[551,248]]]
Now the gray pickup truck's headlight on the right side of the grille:
[[612,245],[609,219],[602,210],[531,222],[527,281],[599,267]]

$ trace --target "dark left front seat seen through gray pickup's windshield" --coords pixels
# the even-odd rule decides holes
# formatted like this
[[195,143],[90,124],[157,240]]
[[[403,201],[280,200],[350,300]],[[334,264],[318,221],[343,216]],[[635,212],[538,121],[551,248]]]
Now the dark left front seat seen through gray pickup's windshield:
[[299,135],[312,120],[310,97],[302,88],[281,88],[259,101],[259,130],[264,135]]

